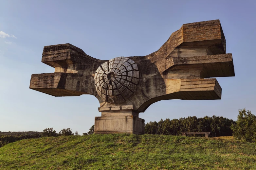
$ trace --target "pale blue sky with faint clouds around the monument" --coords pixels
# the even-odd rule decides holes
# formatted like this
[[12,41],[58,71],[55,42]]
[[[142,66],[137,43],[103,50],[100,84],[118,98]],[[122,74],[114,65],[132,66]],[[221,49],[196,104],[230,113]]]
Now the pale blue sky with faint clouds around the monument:
[[70,43],[101,60],[145,56],[182,24],[219,19],[235,77],[217,78],[221,100],[165,100],[139,117],[145,122],[196,116],[236,120],[256,114],[255,1],[4,1],[0,0],[0,131],[82,135],[101,116],[92,95],[54,97],[29,89],[31,74],[52,73],[41,63],[44,46]]

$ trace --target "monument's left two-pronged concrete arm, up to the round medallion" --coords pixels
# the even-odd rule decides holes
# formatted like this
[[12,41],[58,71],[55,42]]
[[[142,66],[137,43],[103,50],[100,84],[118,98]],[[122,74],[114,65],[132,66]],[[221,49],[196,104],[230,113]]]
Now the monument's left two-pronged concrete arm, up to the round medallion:
[[42,62],[55,68],[54,73],[33,74],[30,89],[53,96],[97,95],[94,77],[99,64],[95,59],[71,44],[45,46]]

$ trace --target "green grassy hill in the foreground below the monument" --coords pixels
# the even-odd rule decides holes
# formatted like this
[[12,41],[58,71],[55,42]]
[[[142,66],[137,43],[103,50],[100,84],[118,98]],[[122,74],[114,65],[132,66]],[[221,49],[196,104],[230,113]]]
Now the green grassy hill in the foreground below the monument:
[[0,169],[256,169],[256,143],[166,135],[44,137],[0,148]]

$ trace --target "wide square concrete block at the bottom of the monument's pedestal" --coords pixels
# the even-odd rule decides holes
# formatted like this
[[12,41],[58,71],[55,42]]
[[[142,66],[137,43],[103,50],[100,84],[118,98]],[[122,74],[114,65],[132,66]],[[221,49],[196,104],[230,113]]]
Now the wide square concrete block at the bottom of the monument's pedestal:
[[[111,114],[110,114],[111,115]],[[95,117],[95,134],[144,134],[145,120],[134,115],[112,115]]]

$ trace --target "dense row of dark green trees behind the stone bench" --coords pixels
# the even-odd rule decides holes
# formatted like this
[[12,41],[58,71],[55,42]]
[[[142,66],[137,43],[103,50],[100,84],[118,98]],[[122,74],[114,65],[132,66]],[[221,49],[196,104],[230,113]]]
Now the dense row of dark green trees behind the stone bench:
[[232,136],[231,125],[236,122],[223,116],[205,116],[197,118],[166,119],[158,122],[148,122],[145,125],[145,134],[181,135],[181,132],[210,132],[211,137]]

